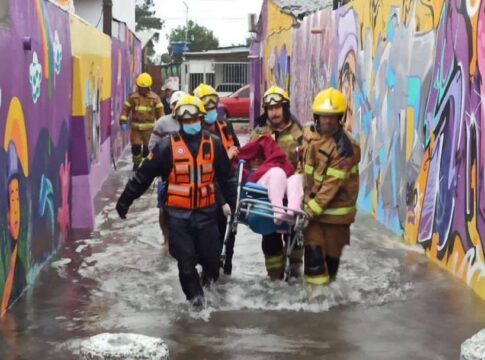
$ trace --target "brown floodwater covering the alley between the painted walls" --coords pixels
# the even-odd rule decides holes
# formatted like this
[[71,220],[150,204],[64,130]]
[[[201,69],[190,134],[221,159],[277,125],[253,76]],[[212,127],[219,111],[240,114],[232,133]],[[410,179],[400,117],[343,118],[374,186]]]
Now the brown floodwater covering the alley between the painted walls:
[[265,277],[259,236],[239,227],[232,277],[189,311],[150,188],[126,220],[115,199],[129,157],[104,184],[93,232],[72,234],[0,320],[0,359],[77,359],[103,332],[166,340],[172,359],[458,359],[485,327],[485,301],[419,247],[360,215],[325,293]]

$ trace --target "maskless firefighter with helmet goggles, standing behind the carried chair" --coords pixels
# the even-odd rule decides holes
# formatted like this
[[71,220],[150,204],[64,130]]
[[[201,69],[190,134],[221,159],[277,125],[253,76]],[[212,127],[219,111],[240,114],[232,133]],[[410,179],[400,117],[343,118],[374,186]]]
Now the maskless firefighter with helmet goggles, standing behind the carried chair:
[[[290,112],[288,93],[280,87],[271,86],[263,95],[264,119],[253,131],[250,141],[262,135],[270,135],[283,149],[295,169],[298,168],[297,148],[302,145],[303,132],[298,120]],[[251,162],[257,167],[258,159]],[[263,235],[263,253],[268,276],[273,279],[283,279],[285,257],[283,253],[284,235],[273,233]],[[291,273],[299,276],[303,258],[303,249],[295,248],[290,256]]]

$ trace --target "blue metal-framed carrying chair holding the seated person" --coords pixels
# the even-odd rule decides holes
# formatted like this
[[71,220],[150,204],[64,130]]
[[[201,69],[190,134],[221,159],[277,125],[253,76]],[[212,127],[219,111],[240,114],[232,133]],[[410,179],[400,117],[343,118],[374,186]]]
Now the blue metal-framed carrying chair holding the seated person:
[[[285,236],[285,279],[288,280],[291,253],[295,248],[303,246],[303,229],[308,222],[307,215],[301,210],[273,205],[269,200],[268,190],[262,185],[251,182],[243,184],[244,164],[244,160],[240,160],[238,164],[236,209],[227,220],[222,262],[225,260],[227,240],[231,233],[236,236],[238,224],[245,224],[261,235],[281,233]],[[281,225],[274,222],[277,215],[284,219]]]

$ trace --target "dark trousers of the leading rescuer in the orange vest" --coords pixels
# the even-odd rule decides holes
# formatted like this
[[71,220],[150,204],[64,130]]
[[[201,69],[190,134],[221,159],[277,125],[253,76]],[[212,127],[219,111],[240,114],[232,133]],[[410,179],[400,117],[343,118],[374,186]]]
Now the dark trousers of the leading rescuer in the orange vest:
[[[177,260],[179,280],[187,300],[203,296],[202,285],[219,278],[222,244],[215,211],[215,207],[193,210],[188,217],[170,214],[167,219],[169,252]],[[202,282],[197,264],[202,265]]]

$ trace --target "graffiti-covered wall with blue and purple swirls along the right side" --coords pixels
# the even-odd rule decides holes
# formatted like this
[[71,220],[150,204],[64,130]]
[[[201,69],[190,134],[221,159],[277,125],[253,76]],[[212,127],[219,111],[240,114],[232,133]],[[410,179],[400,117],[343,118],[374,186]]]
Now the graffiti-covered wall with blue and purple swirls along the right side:
[[[265,53],[281,53],[268,35]],[[306,17],[286,44],[290,70],[263,82],[289,76],[302,121],[321,89],[348,96],[360,207],[485,298],[485,1],[354,0]]]

